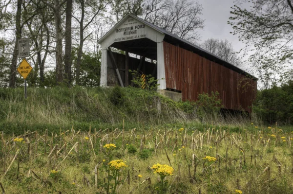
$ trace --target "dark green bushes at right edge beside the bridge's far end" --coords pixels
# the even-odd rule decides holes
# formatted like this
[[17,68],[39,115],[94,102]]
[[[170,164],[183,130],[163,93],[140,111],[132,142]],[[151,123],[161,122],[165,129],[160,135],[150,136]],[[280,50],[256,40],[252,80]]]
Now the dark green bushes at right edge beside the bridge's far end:
[[293,81],[258,91],[253,112],[266,123],[293,123]]

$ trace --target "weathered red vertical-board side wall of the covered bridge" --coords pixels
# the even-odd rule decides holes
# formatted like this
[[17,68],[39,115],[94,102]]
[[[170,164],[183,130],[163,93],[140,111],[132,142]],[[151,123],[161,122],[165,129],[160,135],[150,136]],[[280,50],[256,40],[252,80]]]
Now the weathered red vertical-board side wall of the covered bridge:
[[167,42],[164,58],[167,88],[181,91],[183,101],[217,91],[225,108],[251,112],[256,81]]

